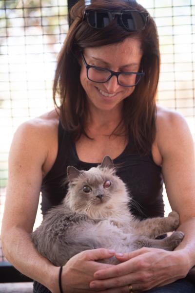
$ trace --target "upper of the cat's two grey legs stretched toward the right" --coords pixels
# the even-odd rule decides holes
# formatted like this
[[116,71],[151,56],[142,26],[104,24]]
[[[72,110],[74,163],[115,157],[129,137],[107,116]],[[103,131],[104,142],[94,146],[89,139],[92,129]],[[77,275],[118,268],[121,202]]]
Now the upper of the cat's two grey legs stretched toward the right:
[[152,218],[143,221],[135,221],[133,227],[136,234],[147,235],[149,238],[156,238],[157,236],[176,230],[179,225],[179,214],[172,211],[168,217]]

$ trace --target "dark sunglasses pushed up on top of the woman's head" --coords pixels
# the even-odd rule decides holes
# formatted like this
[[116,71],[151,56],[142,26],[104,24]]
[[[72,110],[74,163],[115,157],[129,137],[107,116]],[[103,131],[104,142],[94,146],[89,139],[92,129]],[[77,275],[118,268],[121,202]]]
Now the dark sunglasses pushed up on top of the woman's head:
[[138,10],[86,9],[83,20],[93,28],[103,28],[112,23],[116,17],[118,24],[124,29],[140,31],[145,28],[149,14]]

